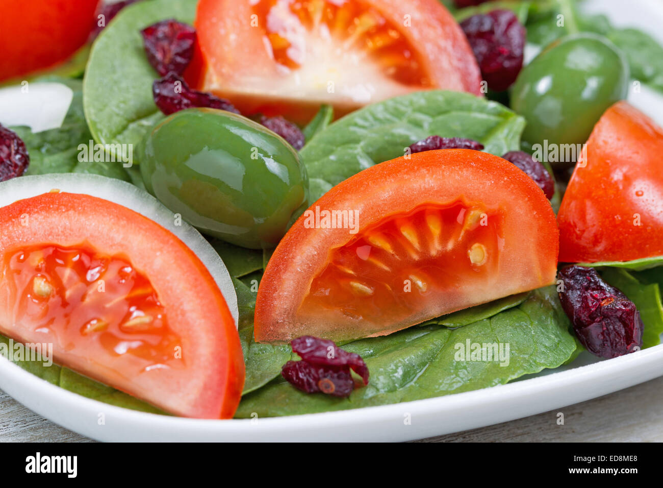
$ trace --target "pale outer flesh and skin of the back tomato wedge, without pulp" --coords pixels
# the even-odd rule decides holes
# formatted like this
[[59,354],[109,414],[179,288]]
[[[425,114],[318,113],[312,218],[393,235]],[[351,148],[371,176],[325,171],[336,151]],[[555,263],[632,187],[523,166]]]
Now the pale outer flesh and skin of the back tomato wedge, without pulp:
[[[359,0],[347,1],[358,3]],[[335,116],[342,116],[367,103],[427,88],[481,96],[479,66],[465,35],[442,3],[438,0],[366,0],[363,4],[379,11],[393,25],[403,26],[409,21],[408,26],[400,31],[421,56],[430,86],[394,84],[387,92],[374,94],[365,102],[350,100],[340,93],[341,88],[336,89],[339,93],[333,92],[331,96],[302,95],[298,92],[306,86],[294,90],[292,83],[286,89],[274,88],[279,80],[287,78],[274,61],[271,50],[266,48],[262,27],[246,21],[253,15],[251,2],[232,0],[201,0],[198,3],[196,30],[201,47],[198,54],[203,59],[197,56],[196,68],[187,72],[187,79],[202,90],[229,98],[243,114],[280,114],[302,123],[312,118],[321,103],[333,104]],[[331,50],[336,41],[326,42]],[[328,83],[326,67],[322,63],[316,64],[315,70]],[[342,70],[342,67],[338,69]],[[256,84],[256,80],[263,82]],[[261,95],[265,97],[261,98]]]

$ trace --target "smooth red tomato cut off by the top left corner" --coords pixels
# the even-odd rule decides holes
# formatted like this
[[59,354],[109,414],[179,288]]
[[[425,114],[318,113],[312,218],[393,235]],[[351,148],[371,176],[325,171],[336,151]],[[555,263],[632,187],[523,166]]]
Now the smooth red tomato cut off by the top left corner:
[[85,44],[99,0],[0,2],[0,80],[64,61]]

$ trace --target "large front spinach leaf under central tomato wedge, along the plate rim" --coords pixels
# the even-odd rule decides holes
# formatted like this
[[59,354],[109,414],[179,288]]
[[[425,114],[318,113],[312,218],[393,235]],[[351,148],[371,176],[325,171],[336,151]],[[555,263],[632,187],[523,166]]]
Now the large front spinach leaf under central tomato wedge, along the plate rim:
[[[306,394],[276,378],[244,396],[236,416],[345,410],[504,384],[524,374],[556,368],[572,357],[576,345],[569,327],[555,288],[538,289],[517,307],[465,327],[411,327],[344,345],[343,349],[359,353],[371,372],[369,385],[357,388],[347,399]],[[509,343],[509,364],[463,361],[458,354],[467,341],[501,343],[503,347]]]

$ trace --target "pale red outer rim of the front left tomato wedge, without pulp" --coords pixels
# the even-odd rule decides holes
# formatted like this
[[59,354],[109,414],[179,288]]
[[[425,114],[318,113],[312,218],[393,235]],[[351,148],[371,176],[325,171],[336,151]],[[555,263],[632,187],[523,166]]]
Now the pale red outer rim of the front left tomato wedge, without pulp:
[[[24,225],[25,218],[29,225]],[[54,331],[15,323],[11,291],[0,287],[0,331],[24,343],[51,342],[55,362],[180,416],[231,418],[241,398],[244,361],[231,313],[210,272],[172,233],[119,204],[89,195],[45,193],[0,208],[0,250],[82,243],[126,256],[150,280],[182,341],[184,369],[145,370],[131,355],[111,355],[99,341],[63,344]],[[154,243],[158,242],[155,250]],[[174,278],[177,279],[174,279]],[[3,280],[5,277],[3,277]],[[149,365],[149,363],[147,363]]]

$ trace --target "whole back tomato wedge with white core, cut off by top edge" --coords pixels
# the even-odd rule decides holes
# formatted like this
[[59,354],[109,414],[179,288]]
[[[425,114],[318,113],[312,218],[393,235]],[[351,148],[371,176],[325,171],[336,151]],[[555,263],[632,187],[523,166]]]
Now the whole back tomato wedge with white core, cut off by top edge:
[[[438,0],[201,0],[194,84],[243,113],[308,120],[413,90],[480,94],[467,39]],[[196,70],[193,70],[196,72]]]

